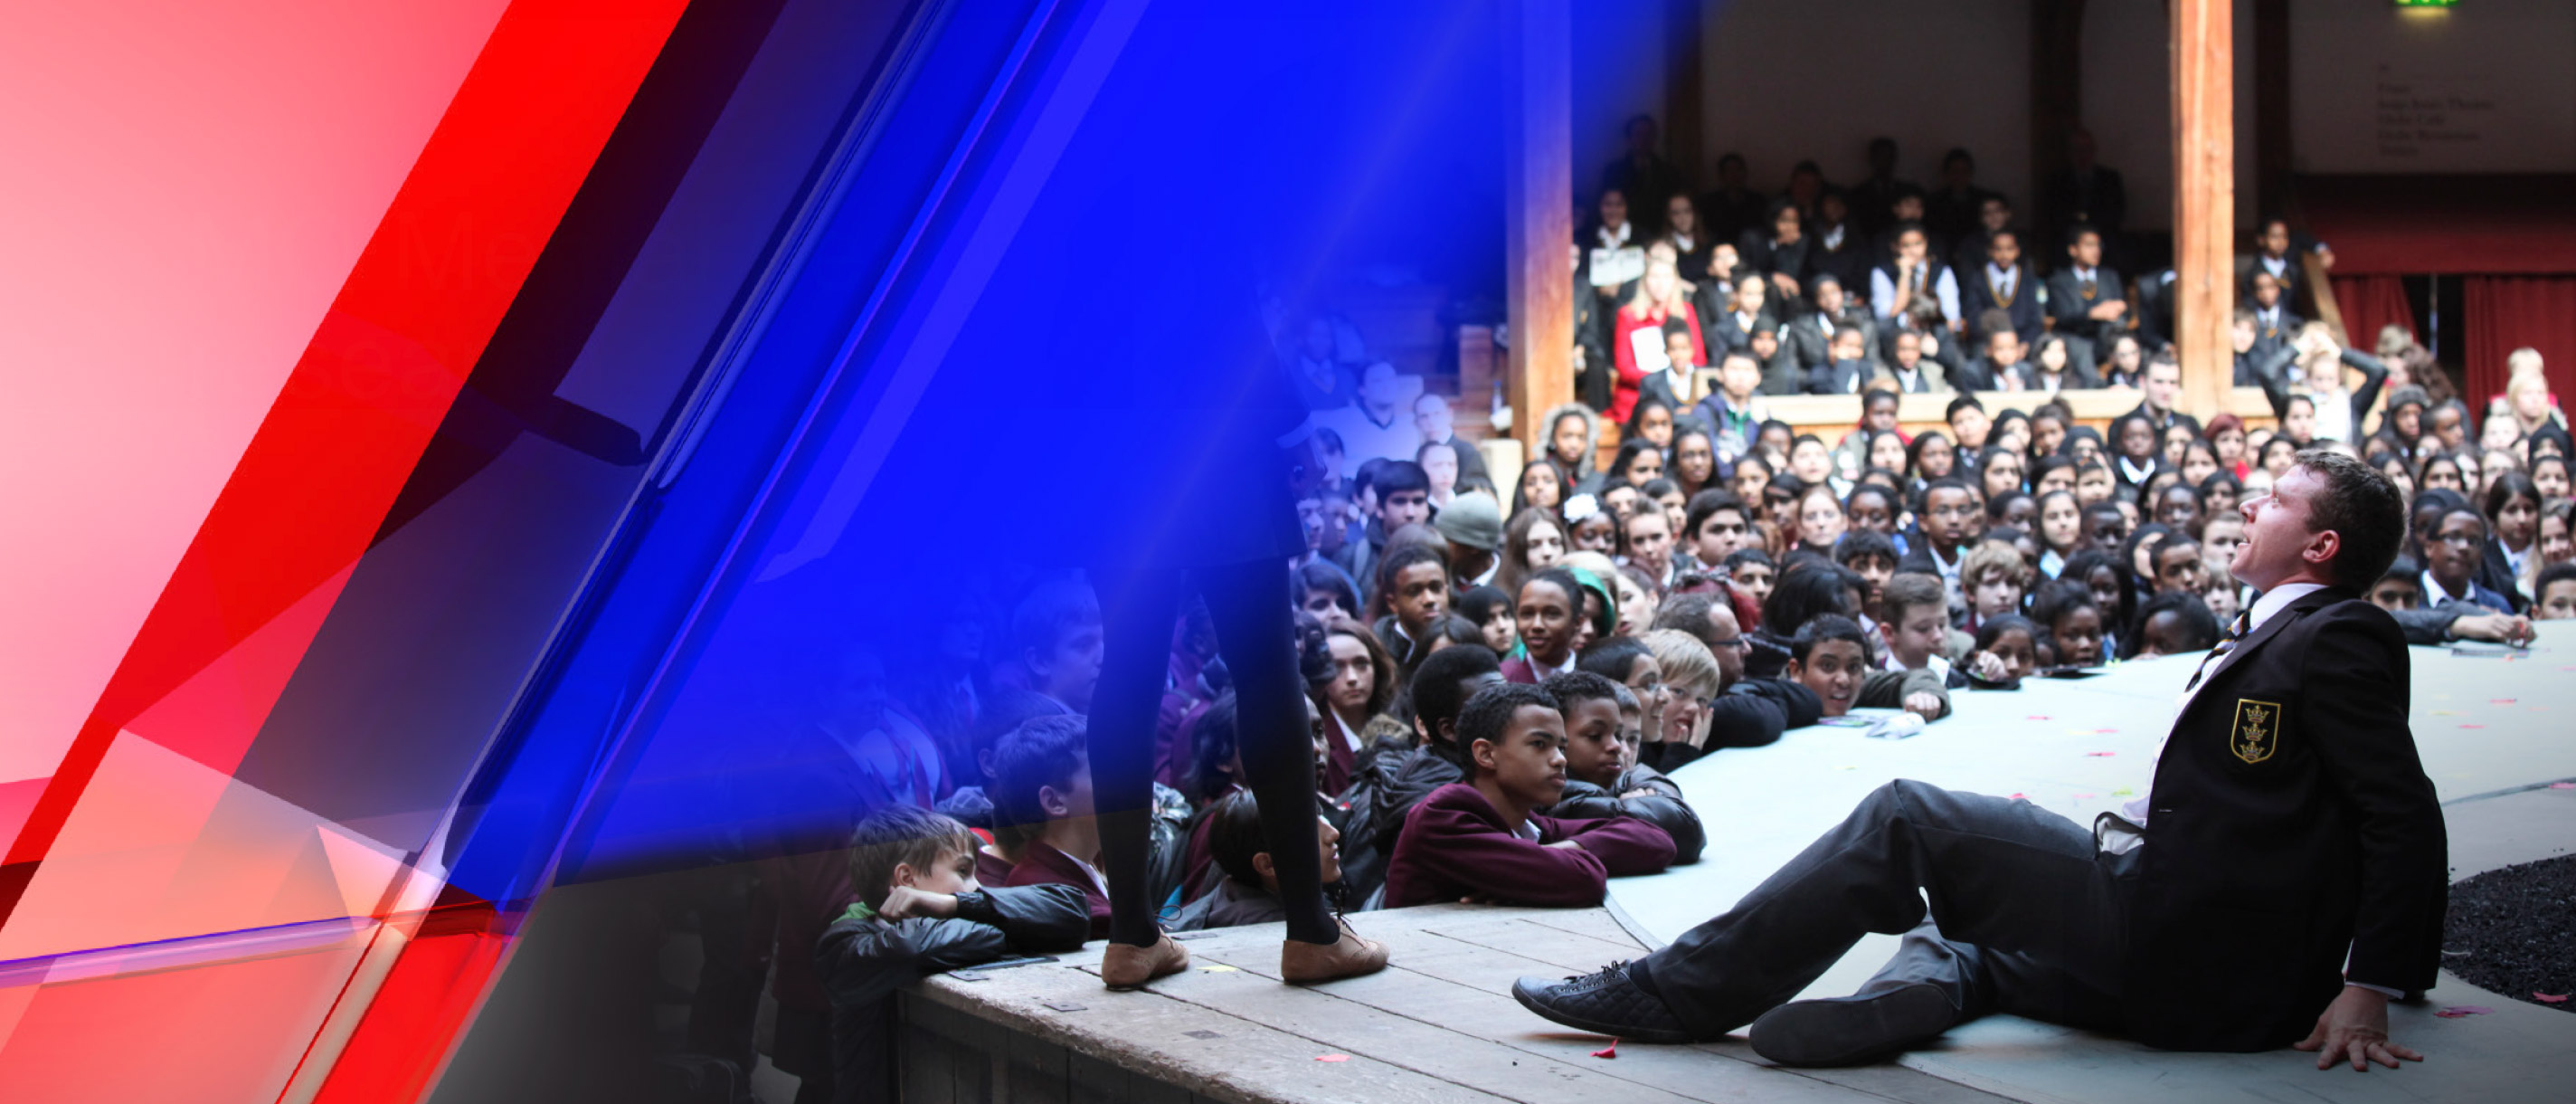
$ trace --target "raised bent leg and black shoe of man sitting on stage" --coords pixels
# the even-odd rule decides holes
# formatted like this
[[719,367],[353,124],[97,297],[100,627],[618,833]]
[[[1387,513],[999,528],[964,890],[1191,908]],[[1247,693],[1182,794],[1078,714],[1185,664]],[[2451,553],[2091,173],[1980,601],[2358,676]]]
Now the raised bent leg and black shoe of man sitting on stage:
[[[1522,980],[1515,996],[1574,1027],[1713,1040],[1798,996],[1862,934],[1911,931],[1924,892],[1950,939],[2089,972],[2117,967],[2125,913],[2092,833],[2030,802],[1891,782],[1672,947],[1569,985]],[[2117,978],[2087,980],[2117,991]]]

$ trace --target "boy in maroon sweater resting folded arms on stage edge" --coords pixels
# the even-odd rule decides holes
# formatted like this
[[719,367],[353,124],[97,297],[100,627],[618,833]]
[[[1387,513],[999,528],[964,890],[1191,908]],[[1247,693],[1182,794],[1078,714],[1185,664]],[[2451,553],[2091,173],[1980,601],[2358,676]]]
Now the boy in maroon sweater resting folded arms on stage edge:
[[1610,877],[1672,864],[1672,836],[1618,815],[1553,820],[1530,810],[1566,789],[1566,717],[1528,684],[1486,686],[1458,715],[1471,782],[1432,789],[1404,818],[1386,864],[1386,908],[1437,900],[1600,905]]

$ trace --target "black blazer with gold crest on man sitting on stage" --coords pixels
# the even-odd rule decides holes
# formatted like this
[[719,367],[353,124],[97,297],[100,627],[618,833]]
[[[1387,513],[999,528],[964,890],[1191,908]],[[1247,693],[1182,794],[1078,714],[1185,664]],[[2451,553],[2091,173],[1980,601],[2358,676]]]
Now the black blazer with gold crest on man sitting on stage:
[[2130,908],[2130,1034],[2298,1042],[2349,978],[2427,991],[2450,849],[2406,727],[2406,637],[2347,588],[2221,660],[2156,764]]

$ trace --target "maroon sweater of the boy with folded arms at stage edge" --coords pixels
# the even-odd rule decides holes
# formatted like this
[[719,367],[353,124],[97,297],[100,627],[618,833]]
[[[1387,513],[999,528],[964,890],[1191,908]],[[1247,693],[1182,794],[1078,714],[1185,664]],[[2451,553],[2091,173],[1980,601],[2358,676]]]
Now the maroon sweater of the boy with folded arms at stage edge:
[[[1468,895],[1510,905],[1592,908],[1613,877],[1672,864],[1672,836],[1638,818],[1553,820],[1530,815],[1538,841],[1512,836],[1471,784],[1448,784],[1414,805],[1386,864],[1386,908]],[[1556,849],[1548,843],[1582,841]]]

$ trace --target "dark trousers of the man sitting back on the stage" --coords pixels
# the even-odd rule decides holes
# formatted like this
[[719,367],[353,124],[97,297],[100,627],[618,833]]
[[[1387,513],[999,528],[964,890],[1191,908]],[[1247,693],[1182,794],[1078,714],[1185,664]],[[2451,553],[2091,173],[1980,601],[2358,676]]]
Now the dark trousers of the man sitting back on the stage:
[[1891,782],[1638,965],[1685,1024],[1721,1034],[1798,996],[1862,934],[1906,934],[1865,993],[1929,983],[1960,1019],[2112,1027],[2136,859],[2030,802]]

